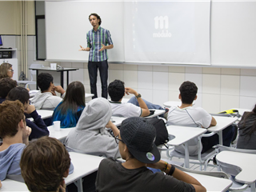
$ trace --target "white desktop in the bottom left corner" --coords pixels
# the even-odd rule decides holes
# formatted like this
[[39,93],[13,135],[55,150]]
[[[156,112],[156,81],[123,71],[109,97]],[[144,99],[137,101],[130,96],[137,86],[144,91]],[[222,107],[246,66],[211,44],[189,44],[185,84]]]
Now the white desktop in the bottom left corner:
[[0,188],[0,191],[30,191],[27,189],[27,186],[24,182],[16,182],[14,180],[10,180],[6,178],[2,182],[2,188]]

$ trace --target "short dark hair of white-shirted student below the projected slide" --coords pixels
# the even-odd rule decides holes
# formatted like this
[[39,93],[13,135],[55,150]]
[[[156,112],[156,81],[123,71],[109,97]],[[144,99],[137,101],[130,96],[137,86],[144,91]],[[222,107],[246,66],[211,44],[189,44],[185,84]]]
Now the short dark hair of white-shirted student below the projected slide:
[[179,87],[179,92],[182,96],[182,103],[191,104],[198,93],[198,87],[194,84],[194,82],[183,82]]

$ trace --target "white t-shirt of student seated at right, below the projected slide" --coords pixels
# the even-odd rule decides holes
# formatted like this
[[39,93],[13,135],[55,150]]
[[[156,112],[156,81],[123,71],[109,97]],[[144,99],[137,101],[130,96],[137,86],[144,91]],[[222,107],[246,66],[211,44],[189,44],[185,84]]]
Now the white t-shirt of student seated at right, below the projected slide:
[[[193,121],[193,119],[194,121]],[[201,107],[188,106],[186,108],[180,109],[178,106],[172,106],[169,109],[167,123],[174,124],[200,124],[202,127],[208,128],[210,126],[212,116],[206,112],[206,110]],[[199,149],[199,143],[197,138],[191,139],[188,142],[189,154],[197,155]],[[182,146],[176,146],[175,150],[181,154],[185,154],[185,150]]]

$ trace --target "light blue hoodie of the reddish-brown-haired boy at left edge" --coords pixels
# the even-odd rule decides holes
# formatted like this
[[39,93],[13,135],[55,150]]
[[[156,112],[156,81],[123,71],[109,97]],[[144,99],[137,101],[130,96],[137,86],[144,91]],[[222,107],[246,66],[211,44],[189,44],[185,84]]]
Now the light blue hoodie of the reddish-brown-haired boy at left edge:
[[21,174],[19,161],[24,148],[25,144],[15,143],[0,151],[0,180],[4,180],[6,174]]

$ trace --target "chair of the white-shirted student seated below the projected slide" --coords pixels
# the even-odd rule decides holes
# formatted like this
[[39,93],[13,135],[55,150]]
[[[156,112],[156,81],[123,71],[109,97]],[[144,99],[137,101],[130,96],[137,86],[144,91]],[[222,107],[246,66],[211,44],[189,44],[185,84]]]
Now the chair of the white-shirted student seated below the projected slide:
[[[174,123],[167,123],[168,126],[170,125],[175,125],[175,126],[190,126],[191,128],[193,127],[201,127],[200,125],[198,124],[174,124]],[[194,139],[191,139],[189,142],[188,142],[188,145],[189,146],[198,146],[198,152],[196,155],[190,155],[190,160],[195,160],[195,161],[190,161],[191,163],[194,163],[194,164],[199,164],[200,165],[200,169],[202,170],[202,166],[204,165],[204,170],[206,171],[206,168],[208,166],[208,162],[210,161],[211,158],[214,158],[214,155],[215,155],[215,151],[214,149],[210,149],[210,150],[207,150],[205,153],[201,154],[201,151],[202,151],[202,142],[201,142],[201,138],[202,137],[210,137],[212,135],[214,135],[215,133],[210,133],[210,134],[202,134],[200,135],[198,138],[194,138]],[[183,149],[185,149],[185,145],[183,144],[181,146]],[[181,147],[178,147],[179,150],[181,150]],[[179,153],[178,151],[176,150],[172,150],[169,151],[167,150],[166,151],[166,155],[167,157],[169,157],[170,159],[173,158],[173,157],[177,157],[177,158],[184,158],[185,159],[185,154],[182,154],[182,153]],[[213,165],[210,165],[210,166],[213,166]]]

